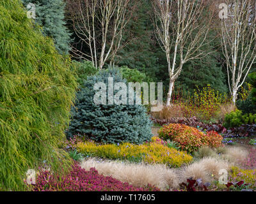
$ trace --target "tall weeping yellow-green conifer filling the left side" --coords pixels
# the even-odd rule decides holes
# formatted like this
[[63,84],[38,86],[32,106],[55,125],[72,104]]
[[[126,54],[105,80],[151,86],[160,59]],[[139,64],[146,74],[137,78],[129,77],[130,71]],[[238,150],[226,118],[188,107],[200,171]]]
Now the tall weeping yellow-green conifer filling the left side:
[[76,79],[27,18],[20,0],[0,1],[0,190],[26,189],[28,169],[70,165],[64,140]]

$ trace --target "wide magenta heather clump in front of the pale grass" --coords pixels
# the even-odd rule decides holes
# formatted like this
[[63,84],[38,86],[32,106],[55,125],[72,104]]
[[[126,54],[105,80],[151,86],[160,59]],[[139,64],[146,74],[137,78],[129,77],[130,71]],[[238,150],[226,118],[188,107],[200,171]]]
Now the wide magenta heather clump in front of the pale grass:
[[49,171],[41,171],[33,191],[160,191],[157,187],[134,187],[113,177],[100,175],[95,168],[86,171],[75,163],[68,175],[54,177]]

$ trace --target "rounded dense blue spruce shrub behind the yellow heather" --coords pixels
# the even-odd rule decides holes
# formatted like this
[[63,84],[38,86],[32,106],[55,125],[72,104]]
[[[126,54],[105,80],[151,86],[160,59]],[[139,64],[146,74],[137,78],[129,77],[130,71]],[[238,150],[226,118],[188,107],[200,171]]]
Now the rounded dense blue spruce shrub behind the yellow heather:
[[[127,84],[115,68],[99,71],[97,75],[88,77],[81,90],[77,92],[77,102],[72,108],[67,137],[86,135],[91,140],[104,143],[149,141],[153,136],[151,122],[143,105],[135,105],[135,99],[134,105],[108,105],[108,77],[113,77],[114,84]],[[97,82],[106,84],[106,105],[96,105],[93,101],[97,92],[93,90],[93,86]],[[114,95],[116,92],[114,91]]]

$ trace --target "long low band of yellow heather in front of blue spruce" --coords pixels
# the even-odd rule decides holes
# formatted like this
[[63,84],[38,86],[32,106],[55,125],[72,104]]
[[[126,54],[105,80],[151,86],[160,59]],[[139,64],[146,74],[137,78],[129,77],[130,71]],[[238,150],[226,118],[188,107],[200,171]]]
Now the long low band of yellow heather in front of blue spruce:
[[193,159],[186,152],[168,148],[166,143],[157,137],[141,145],[133,143],[100,145],[92,141],[80,142],[77,143],[77,151],[95,157],[166,164],[170,167],[180,167],[182,164],[190,163]]

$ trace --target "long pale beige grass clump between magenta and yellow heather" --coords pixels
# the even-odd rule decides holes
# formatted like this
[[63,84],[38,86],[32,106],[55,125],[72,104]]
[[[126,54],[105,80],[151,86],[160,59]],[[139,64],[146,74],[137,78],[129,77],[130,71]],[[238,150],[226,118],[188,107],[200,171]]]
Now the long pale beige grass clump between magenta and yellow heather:
[[81,163],[85,170],[95,168],[104,176],[112,176],[122,182],[128,182],[135,187],[144,187],[147,184],[159,187],[162,190],[178,187],[179,180],[173,170],[161,164],[134,164],[118,161],[97,161],[90,158]]

